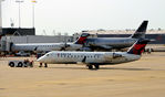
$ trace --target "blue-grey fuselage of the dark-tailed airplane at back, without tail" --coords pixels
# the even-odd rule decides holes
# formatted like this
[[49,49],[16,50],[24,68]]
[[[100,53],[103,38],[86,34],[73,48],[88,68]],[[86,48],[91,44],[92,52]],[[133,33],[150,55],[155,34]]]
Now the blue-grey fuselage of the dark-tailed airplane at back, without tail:
[[89,37],[86,39],[85,46],[91,48],[124,48],[133,45],[138,39],[132,37]]

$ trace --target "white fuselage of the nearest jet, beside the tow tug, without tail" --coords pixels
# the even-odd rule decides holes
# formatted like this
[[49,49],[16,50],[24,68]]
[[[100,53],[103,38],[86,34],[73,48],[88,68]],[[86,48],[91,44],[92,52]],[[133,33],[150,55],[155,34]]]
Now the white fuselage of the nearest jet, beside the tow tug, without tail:
[[38,58],[41,63],[49,64],[118,64],[136,61],[141,55],[127,54],[126,52],[49,52]]

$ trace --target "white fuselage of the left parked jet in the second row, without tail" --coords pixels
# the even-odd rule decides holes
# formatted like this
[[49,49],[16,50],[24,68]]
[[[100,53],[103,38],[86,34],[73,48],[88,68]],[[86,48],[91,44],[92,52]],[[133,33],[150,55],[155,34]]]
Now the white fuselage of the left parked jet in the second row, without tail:
[[[82,47],[81,44],[68,43],[66,51],[76,51]],[[13,44],[12,51],[60,51],[64,47],[64,43],[27,43],[27,44]]]

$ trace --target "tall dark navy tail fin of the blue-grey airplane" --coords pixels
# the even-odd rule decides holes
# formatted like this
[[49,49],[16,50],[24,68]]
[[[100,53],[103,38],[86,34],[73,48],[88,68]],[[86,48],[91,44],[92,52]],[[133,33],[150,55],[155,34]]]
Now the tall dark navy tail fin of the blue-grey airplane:
[[147,29],[148,21],[143,21],[143,23],[138,26],[135,33],[131,36],[134,39],[145,39],[145,32]]

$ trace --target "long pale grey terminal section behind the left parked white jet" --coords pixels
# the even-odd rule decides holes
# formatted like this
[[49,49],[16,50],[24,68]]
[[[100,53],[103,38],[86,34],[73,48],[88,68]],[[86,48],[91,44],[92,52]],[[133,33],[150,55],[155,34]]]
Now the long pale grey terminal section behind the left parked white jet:
[[22,36],[11,36],[6,35],[1,39],[1,51],[9,52],[11,50],[12,43],[60,43],[60,42],[72,42],[73,36],[55,35],[22,35]]

